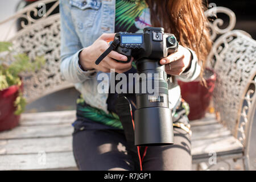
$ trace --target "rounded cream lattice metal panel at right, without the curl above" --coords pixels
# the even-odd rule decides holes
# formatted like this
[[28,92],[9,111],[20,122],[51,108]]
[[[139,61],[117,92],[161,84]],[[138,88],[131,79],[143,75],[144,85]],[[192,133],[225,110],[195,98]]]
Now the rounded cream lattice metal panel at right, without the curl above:
[[[242,98],[248,89],[248,83],[255,76],[255,57],[255,40],[243,35],[241,31],[231,31],[218,38],[208,57],[208,64],[217,73],[214,106],[220,112],[221,121],[233,135],[237,131]],[[243,115],[245,111],[246,107],[243,107]]]

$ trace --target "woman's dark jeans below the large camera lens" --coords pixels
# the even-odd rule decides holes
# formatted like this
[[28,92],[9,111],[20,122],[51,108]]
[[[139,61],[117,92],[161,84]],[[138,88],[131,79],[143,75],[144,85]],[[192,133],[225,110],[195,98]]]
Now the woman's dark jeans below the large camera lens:
[[[73,154],[80,170],[134,170],[134,161],[127,153],[123,130],[101,123],[86,122],[75,129]],[[191,135],[174,127],[174,144],[148,147],[142,160],[144,170],[191,170]],[[143,154],[141,154],[143,156]]]

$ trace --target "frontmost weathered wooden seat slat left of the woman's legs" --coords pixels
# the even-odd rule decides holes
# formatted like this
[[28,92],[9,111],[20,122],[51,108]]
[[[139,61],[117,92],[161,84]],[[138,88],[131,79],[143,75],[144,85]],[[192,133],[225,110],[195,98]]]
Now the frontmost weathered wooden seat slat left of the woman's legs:
[[35,170],[76,168],[72,152],[46,153],[46,163],[43,155],[0,155],[0,170]]

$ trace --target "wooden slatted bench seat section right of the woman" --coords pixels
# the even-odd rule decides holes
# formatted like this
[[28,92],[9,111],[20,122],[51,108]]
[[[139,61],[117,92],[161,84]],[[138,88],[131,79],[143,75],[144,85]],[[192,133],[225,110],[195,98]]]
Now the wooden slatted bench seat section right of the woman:
[[217,155],[218,159],[240,158],[243,146],[232,133],[215,119],[214,114],[191,122],[193,163],[208,162]]

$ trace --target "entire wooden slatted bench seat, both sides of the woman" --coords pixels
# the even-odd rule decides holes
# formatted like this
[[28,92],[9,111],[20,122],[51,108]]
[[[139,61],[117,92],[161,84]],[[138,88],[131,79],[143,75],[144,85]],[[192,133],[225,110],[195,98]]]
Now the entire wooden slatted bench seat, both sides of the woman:
[[[75,111],[22,114],[20,125],[0,133],[0,170],[77,169],[72,152],[71,123]],[[217,158],[242,156],[242,144],[207,114],[192,121],[193,163]],[[45,163],[40,163],[42,155]]]

